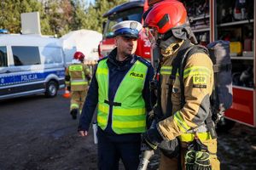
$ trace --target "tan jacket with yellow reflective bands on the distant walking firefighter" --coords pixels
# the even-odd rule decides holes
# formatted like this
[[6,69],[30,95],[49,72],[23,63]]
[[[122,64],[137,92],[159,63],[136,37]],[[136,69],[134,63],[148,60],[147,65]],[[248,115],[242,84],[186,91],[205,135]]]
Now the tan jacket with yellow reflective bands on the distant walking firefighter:
[[90,69],[82,63],[74,63],[69,65],[65,74],[66,86],[71,91],[84,91],[87,89],[89,81],[86,76],[90,75]]

